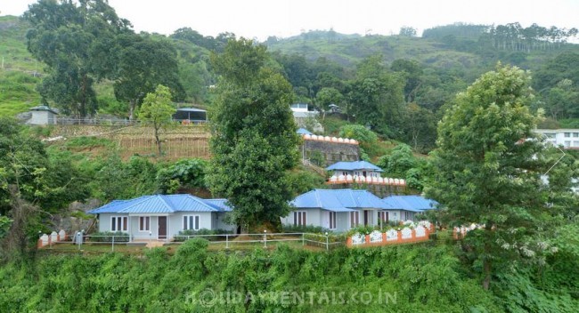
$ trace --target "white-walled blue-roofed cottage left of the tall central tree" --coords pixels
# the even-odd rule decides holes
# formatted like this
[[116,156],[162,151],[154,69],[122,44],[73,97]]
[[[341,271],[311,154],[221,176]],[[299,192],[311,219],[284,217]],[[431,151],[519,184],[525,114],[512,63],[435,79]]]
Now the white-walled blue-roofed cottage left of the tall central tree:
[[237,229],[224,222],[225,213],[231,211],[225,199],[154,195],[114,200],[88,213],[97,215],[99,231],[126,232],[134,241],[170,240],[187,229]]

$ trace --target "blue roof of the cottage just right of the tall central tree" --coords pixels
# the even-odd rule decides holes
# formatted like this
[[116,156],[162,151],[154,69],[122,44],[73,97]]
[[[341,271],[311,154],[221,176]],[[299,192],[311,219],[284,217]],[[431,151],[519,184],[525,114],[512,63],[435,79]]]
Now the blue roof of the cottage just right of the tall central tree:
[[320,208],[334,212],[351,211],[348,209],[390,208],[370,191],[353,189],[314,189],[296,197],[290,205],[300,209]]

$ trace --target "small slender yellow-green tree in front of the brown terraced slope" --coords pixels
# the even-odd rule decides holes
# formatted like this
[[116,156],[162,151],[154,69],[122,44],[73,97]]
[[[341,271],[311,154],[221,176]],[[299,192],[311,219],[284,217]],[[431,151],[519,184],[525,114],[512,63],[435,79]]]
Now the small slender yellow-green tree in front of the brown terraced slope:
[[147,93],[139,111],[139,118],[145,123],[152,124],[159,157],[161,156],[160,131],[173,124],[171,116],[176,110],[171,102],[171,91],[168,87],[159,84],[154,93]]

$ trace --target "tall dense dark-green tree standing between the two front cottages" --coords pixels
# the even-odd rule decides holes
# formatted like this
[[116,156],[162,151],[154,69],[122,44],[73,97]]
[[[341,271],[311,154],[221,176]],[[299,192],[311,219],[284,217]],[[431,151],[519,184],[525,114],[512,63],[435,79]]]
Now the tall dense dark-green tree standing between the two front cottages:
[[209,112],[208,184],[235,207],[232,221],[243,229],[264,222],[279,226],[292,197],[286,171],[298,161],[291,85],[266,60],[265,46],[243,38],[212,56],[222,77]]

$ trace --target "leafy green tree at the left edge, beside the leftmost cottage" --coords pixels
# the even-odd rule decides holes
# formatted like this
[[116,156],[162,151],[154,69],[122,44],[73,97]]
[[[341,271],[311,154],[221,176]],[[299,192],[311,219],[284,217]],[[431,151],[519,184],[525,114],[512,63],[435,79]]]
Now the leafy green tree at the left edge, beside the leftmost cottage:
[[12,220],[0,250],[29,255],[53,214],[88,196],[85,184],[68,160],[51,159],[40,140],[16,121],[0,118],[0,214]]

